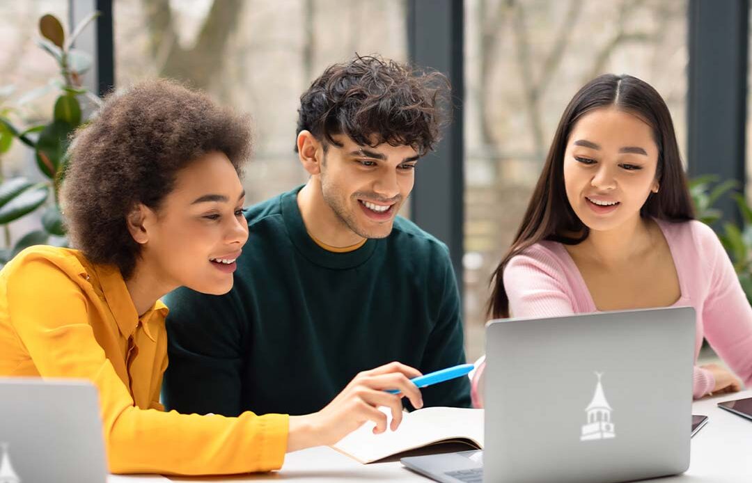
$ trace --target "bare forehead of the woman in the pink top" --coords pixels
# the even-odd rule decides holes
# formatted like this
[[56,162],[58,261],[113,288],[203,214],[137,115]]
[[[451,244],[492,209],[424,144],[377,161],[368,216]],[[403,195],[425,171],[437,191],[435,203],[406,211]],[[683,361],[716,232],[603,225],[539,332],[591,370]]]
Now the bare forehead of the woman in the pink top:
[[613,107],[596,109],[575,123],[568,143],[589,140],[601,146],[656,148],[653,128],[635,114]]

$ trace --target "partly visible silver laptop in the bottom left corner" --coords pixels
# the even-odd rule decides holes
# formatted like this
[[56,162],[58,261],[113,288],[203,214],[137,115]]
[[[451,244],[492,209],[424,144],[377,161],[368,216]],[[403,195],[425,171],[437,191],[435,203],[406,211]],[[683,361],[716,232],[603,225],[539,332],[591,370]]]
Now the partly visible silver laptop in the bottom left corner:
[[0,379],[0,481],[105,483],[106,478],[94,385]]

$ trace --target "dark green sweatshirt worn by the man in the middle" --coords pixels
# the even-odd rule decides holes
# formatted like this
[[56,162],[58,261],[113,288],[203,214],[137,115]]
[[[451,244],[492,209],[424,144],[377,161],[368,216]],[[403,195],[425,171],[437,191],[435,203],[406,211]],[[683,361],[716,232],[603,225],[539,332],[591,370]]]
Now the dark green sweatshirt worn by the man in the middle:
[[[423,373],[465,363],[444,243],[398,216],[388,237],[329,252],[305,230],[299,190],[246,210],[232,291],[165,297],[168,409],[302,415],[390,361]],[[422,391],[425,406],[470,405],[466,377]]]

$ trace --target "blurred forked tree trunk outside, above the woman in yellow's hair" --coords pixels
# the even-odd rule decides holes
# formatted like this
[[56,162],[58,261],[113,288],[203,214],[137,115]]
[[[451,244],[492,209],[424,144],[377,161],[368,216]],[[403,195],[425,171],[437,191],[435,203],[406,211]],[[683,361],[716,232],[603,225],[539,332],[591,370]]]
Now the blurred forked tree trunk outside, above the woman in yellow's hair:
[[170,77],[208,89],[222,72],[227,41],[238,26],[242,0],[214,0],[196,44],[185,49],[177,41],[169,0],[142,0],[152,55],[159,77]]

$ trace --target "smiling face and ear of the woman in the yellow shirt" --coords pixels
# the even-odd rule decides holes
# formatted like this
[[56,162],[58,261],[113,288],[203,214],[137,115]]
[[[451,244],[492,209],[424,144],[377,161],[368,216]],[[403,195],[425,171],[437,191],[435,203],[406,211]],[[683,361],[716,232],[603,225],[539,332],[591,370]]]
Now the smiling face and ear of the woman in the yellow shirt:
[[235,259],[248,239],[242,208],[245,192],[232,163],[210,152],[179,171],[172,192],[156,212],[146,213],[141,260],[171,287],[205,294],[232,288]]

